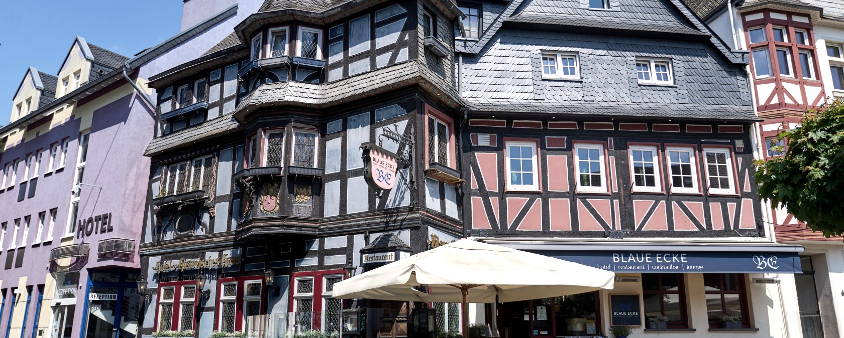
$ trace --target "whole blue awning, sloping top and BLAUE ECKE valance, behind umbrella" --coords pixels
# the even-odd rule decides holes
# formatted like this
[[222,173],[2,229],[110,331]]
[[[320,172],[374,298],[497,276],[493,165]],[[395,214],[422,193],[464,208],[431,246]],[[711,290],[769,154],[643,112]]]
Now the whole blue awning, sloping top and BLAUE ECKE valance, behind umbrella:
[[614,272],[802,272],[803,246],[793,244],[484,241]]

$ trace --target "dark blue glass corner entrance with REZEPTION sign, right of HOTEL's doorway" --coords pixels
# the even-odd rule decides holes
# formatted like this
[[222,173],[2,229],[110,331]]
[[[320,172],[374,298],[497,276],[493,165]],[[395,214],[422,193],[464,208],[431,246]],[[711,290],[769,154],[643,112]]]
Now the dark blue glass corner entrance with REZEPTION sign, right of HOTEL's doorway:
[[91,272],[85,336],[133,338],[138,334],[141,298],[135,272]]

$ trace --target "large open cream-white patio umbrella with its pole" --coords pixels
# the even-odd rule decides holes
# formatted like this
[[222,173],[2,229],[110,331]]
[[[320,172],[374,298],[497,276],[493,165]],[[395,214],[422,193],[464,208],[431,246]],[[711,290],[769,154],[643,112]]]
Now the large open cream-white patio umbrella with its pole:
[[[463,303],[516,302],[613,288],[615,274],[499,245],[460,239],[334,284],[332,297]],[[421,292],[414,287],[428,287]]]

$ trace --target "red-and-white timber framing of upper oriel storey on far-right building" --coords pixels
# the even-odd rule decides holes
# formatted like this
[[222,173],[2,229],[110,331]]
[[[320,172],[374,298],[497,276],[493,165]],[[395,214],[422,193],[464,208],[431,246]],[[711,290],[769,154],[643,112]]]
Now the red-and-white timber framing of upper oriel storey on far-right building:
[[[795,20],[795,16],[805,18]],[[782,19],[782,18],[787,19]],[[818,52],[814,46],[814,31],[812,21],[808,15],[778,12],[770,9],[760,9],[742,13],[744,24],[744,39],[750,51],[750,69],[754,75],[755,104],[760,117],[765,118],[765,112],[774,110],[797,110],[816,107],[823,102],[824,84],[820,80],[820,68],[817,62]],[[751,41],[750,30],[764,28],[765,39]],[[774,39],[774,28],[785,30],[784,41]],[[798,43],[795,30],[806,33],[805,44]],[[769,57],[770,76],[760,75],[755,67],[754,51],[767,50]],[[781,75],[778,65],[777,50],[787,51],[790,55],[787,64],[790,75]],[[809,53],[810,72],[801,67],[800,52]],[[764,71],[763,71],[764,72]],[[774,112],[776,114],[776,112]]]

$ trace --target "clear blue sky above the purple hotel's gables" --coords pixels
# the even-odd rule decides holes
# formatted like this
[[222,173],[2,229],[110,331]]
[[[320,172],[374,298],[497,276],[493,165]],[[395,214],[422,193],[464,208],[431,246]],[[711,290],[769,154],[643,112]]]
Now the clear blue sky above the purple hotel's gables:
[[0,0],[0,126],[27,68],[56,75],[79,35],[132,57],[176,35],[181,0]]

